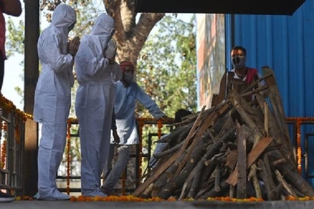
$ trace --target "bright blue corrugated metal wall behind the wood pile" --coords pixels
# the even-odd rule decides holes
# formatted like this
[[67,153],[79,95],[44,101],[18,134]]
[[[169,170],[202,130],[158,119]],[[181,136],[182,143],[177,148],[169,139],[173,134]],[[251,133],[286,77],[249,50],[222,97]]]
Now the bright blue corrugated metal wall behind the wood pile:
[[[314,0],[293,16],[226,15],[226,57],[235,45],[247,49],[247,66],[275,72],[288,117],[314,117]],[[313,126],[302,133],[314,132]],[[314,140],[309,142],[309,174],[314,174]],[[302,138],[304,150],[305,138]],[[303,167],[304,168],[304,167]],[[304,171],[304,169],[303,169]],[[313,179],[308,179],[314,185]]]

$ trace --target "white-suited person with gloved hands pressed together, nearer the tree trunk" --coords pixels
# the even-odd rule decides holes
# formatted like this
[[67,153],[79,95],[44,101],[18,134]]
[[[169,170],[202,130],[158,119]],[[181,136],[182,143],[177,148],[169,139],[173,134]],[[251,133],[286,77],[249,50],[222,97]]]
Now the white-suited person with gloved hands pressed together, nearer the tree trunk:
[[89,35],[83,36],[76,56],[79,83],[75,110],[79,124],[81,149],[81,193],[106,196],[100,190],[101,174],[110,146],[114,81],[122,77],[115,60],[117,45],[111,40],[113,18],[100,15]]

